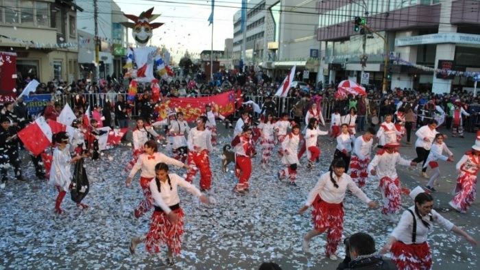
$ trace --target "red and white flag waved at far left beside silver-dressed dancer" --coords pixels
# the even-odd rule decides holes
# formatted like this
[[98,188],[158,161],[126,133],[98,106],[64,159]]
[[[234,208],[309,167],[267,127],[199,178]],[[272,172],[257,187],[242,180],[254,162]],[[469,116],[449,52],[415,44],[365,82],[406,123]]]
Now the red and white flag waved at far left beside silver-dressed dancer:
[[19,131],[18,135],[28,151],[32,152],[34,156],[38,156],[51,145],[51,128],[45,122],[43,116]]

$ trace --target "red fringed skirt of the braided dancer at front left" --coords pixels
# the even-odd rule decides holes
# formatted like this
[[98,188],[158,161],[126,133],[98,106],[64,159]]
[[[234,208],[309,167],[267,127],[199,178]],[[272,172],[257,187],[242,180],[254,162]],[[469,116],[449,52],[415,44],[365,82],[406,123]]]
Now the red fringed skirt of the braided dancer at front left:
[[177,223],[171,223],[165,212],[154,211],[152,221],[150,221],[150,229],[145,236],[145,249],[149,253],[160,252],[160,247],[167,245],[173,251],[173,254],[180,254],[182,239],[180,236],[184,233],[182,208],[173,210],[178,216]]

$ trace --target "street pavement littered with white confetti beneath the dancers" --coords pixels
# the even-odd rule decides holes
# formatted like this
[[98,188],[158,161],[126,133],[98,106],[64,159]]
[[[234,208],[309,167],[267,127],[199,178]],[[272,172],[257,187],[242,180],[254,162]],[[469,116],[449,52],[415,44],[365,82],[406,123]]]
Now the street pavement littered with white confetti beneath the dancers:
[[[311,213],[296,214],[315,186],[318,175],[324,173],[330,164],[335,143],[320,136],[320,163],[316,163],[314,169],[306,169],[303,157],[296,187],[277,179],[276,171],[283,165],[275,151],[272,164],[262,169],[261,149],[257,146],[259,155],[252,160],[250,193],[237,195],[232,192],[237,183],[233,166],[230,164],[228,172],[223,173],[220,158],[221,147],[231,142],[233,130],[226,130],[220,122],[217,127],[219,145],[210,154],[213,190],[208,193],[214,204],[200,204],[189,193],[180,192],[186,214],[185,234],[182,253],[171,269],[258,269],[264,261],[276,262],[283,269],[336,269],[339,261],[324,258],[325,234],[312,239],[309,254],[302,251],[302,236],[312,228]],[[444,129],[440,132],[449,135]],[[465,136],[445,140],[455,154],[455,162],[475,143],[475,134]],[[412,142],[415,139],[413,137]],[[165,248],[158,256],[149,256],[143,245],[137,247],[136,256],[130,256],[128,252],[130,238],[147,232],[150,216],[148,213],[139,221],[132,220],[132,209],[143,199],[143,193],[138,174],[134,184],[125,188],[126,175],[122,171],[130,160],[130,149],[129,145],[121,145],[104,151],[96,162],[86,160],[91,191],[84,203],[90,208],[78,210],[67,195],[62,203],[67,214],[61,217],[53,214],[55,189],[35,180],[32,163],[23,152],[25,175],[29,181],[10,180],[0,191],[0,270],[159,269],[161,261],[165,260]],[[160,151],[167,152],[167,149],[162,147]],[[404,158],[416,157],[414,145],[403,143],[399,151]],[[440,162],[443,175],[437,181],[439,185],[435,186],[438,192],[433,193],[435,210],[480,241],[478,199],[466,214],[448,207],[456,180],[455,162]],[[185,173],[182,169],[171,170],[181,176]],[[409,189],[427,183],[420,176],[420,165],[413,170],[398,166],[397,170],[403,186]],[[430,170],[427,173],[431,175]],[[196,186],[198,178],[194,180]],[[375,177],[370,177],[365,193],[381,203]],[[413,204],[408,196],[402,199],[405,208]],[[367,209],[352,195],[346,197],[344,209],[344,237],[355,232],[368,232],[380,249],[395,224],[381,219],[379,209]],[[433,253],[433,269],[478,268],[479,248],[472,247],[451,232],[434,226],[429,245]],[[345,255],[343,244],[338,255]]]

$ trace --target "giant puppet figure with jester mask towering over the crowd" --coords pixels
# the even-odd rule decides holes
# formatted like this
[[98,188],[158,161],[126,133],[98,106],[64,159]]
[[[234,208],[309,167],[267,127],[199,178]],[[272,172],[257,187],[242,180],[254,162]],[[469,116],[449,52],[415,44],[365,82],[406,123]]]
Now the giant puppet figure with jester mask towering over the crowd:
[[156,64],[157,72],[160,77],[167,79],[171,71],[167,64],[163,62],[160,56],[160,50],[156,47],[147,47],[147,43],[152,38],[152,30],[163,25],[163,23],[150,23],[158,18],[160,14],[152,14],[154,8],[142,12],[140,16],[124,14],[125,17],[134,21],[134,23],[121,23],[125,27],[133,29],[133,38],[138,48],[129,48],[127,52],[127,64],[123,66],[127,69],[125,77],[132,78],[130,89],[128,90],[128,100],[132,101],[136,95],[136,83],[152,83],[154,92],[152,93],[154,101],[160,97],[160,93],[156,93],[158,89],[158,80],[154,77],[154,64]]

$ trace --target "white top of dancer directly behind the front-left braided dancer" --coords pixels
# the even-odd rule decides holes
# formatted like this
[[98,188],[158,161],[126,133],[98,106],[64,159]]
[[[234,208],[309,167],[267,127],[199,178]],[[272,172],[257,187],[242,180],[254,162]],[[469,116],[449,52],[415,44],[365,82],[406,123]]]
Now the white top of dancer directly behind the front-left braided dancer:
[[184,166],[184,164],[181,161],[176,160],[175,158],[169,158],[168,156],[165,156],[160,152],[156,152],[152,156],[148,156],[147,154],[141,154],[139,156],[139,159],[136,160],[136,163],[132,168],[132,171],[130,171],[130,174],[128,175],[128,177],[134,177],[136,172],[141,169],[142,170],[142,172],[140,173],[141,177],[153,178],[155,177],[155,165],[160,162],[164,162],[166,164],[173,165],[176,167]]

